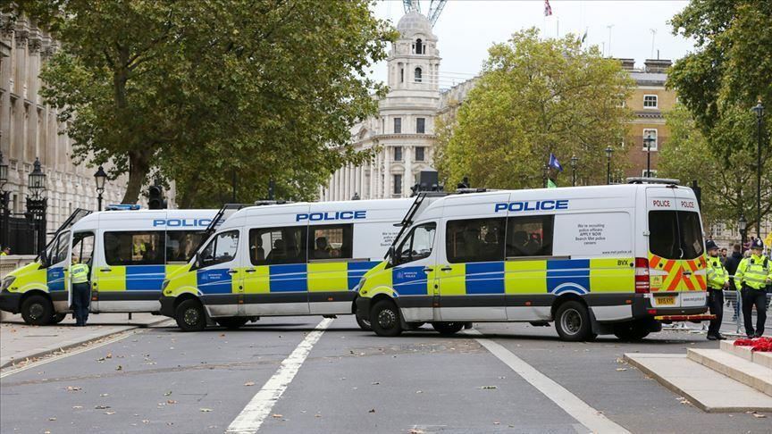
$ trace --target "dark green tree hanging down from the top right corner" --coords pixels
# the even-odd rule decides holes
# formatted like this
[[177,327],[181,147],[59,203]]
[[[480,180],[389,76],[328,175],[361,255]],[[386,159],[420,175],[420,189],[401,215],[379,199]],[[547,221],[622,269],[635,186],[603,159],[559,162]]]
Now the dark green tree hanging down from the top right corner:
[[[752,226],[759,224],[756,202],[756,116],[751,107],[757,99],[772,105],[772,2],[769,0],[693,0],[672,20],[674,34],[695,40],[695,51],[677,61],[668,76],[679,101],[688,109],[675,113],[674,126],[684,140],[680,146],[712,164],[718,179],[705,179],[703,195],[717,197],[711,216],[736,221],[744,213]],[[690,119],[691,118],[691,119]],[[767,119],[770,116],[767,115]],[[768,122],[767,122],[768,123]],[[699,136],[695,131],[699,130]],[[674,133],[675,136],[675,133]],[[670,144],[674,143],[671,138]],[[762,131],[762,213],[772,204],[768,157],[772,143]],[[667,163],[666,155],[662,161]],[[680,155],[673,154],[673,157]],[[676,162],[690,164],[691,158]],[[670,162],[671,173],[684,173]],[[730,187],[731,186],[731,187]],[[708,191],[716,188],[716,191]],[[711,204],[709,201],[708,204]],[[766,211],[765,211],[766,209]]]

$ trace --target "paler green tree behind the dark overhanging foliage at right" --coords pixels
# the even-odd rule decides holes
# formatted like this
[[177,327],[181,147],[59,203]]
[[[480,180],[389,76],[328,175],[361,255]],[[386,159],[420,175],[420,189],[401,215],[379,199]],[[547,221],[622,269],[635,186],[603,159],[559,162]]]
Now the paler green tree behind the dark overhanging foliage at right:
[[[682,104],[667,113],[670,138],[659,158],[659,171],[666,178],[696,179],[702,188],[701,213],[706,223],[730,222],[740,215],[756,215],[756,172],[749,170],[755,151],[749,150],[755,122],[747,113],[734,113],[740,121],[724,121],[713,129],[715,140],[726,144],[717,152],[697,127],[697,121]],[[764,158],[772,154],[767,153]],[[762,173],[761,212],[772,212],[772,172]]]

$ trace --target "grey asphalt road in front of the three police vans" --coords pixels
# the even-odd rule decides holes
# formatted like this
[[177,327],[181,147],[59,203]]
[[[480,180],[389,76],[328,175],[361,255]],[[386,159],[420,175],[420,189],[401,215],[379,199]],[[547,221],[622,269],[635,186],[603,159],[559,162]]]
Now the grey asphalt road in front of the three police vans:
[[4,373],[0,431],[769,432],[772,426],[772,414],[703,413],[620,360],[636,351],[717,347],[683,331],[635,344],[564,343],[552,327],[491,323],[449,338],[428,326],[377,338],[351,317],[292,317],[237,331],[155,326],[127,336]]

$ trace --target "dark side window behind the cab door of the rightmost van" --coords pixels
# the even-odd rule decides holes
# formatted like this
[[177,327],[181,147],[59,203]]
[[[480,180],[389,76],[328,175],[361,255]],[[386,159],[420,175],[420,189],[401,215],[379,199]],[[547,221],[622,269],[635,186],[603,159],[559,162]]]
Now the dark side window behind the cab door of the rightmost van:
[[448,221],[445,250],[449,263],[504,260],[504,218]]

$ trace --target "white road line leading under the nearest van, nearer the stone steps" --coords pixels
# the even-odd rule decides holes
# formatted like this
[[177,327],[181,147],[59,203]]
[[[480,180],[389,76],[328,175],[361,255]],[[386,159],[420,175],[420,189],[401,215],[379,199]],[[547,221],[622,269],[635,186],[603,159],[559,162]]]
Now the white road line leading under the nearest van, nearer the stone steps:
[[[478,330],[466,330],[466,334],[482,335],[483,333]],[[617,423],[608,419],[603,413],[592,408],[579,399],[578,396],[575,396],[566,388],[550,379],[550,377],[537,371],[530,364],[525,363],[523,359],[514,355],[506,347],[487,338],[475,338],[475,340],[490,351],[492,355],[498,357],[501,362],[506,363],[523,380],[528,381],[544,396],[549,397],[552,402],[571,415],[576,421],[583,424],[588,430],[592,432],[629,434],[630,431],[625,430],[621,425],[617,425]]]

